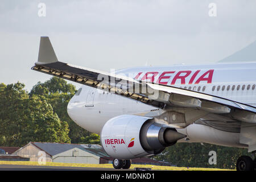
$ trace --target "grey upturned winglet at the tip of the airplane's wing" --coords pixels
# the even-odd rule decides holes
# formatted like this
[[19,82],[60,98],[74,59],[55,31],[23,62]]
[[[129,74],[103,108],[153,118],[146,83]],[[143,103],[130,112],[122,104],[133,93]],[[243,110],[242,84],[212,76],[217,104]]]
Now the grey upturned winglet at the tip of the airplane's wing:
[[58,59],[55,55],[55,52],[52,48],[52,44],[48,36],[41,36],[38,61],[35,64],[48,64],[55,63]]

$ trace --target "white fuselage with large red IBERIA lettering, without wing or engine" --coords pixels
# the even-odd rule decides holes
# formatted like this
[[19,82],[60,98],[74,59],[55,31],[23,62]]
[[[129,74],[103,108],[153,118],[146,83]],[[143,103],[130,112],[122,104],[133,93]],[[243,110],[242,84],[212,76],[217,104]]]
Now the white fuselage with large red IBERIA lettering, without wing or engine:
[[[255,73],[256,63],[139,67],[115,72],[118,75],[194,90],[251,106],[256,106]],[[97,134],[100,134],[102,127],[110,118],[153,109],[158,108],[85,85],[81,86],[80,91],[68,104],[68,114],[73,121]],[[239,142],[240,133],[221,131],[197,124],[177,130],[187,135],[186,139],[181,139],[179,142],[205,142],[246,147]]]

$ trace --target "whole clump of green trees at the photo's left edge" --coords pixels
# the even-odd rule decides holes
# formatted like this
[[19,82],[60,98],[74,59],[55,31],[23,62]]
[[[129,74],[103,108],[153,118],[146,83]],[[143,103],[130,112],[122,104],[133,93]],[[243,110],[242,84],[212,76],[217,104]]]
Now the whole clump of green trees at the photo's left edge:
[[24,84],[0,85],[0,145],[23,146],[34,142],[70,142],[68,124],[51,105],[29,97]]

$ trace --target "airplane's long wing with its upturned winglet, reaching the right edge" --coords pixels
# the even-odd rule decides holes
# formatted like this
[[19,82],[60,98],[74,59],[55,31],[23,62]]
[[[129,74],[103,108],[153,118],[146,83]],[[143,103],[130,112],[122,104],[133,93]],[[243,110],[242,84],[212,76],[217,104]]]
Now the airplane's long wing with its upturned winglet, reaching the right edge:
[[[47,52],[49,52],[48,55],[46,55]],[[242,122],[256,123],[256,108],[249,105],[58,61],[48,37],[41,37],[38,62],[31,69],[113,92],[159,109],[196,109],[205,113],[229,115],[230,118]]]

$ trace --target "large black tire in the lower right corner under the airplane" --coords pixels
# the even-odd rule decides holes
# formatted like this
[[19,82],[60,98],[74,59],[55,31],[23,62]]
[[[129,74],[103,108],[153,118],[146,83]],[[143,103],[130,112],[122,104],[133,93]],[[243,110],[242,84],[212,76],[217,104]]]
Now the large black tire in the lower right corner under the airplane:
[[237,159],[237,171],[253,171],[254,162],[249,156],[243,155]]

